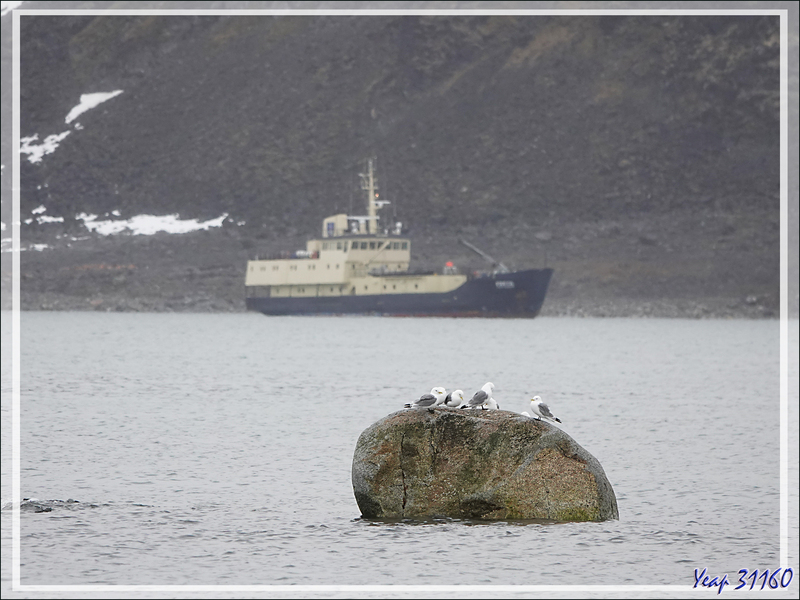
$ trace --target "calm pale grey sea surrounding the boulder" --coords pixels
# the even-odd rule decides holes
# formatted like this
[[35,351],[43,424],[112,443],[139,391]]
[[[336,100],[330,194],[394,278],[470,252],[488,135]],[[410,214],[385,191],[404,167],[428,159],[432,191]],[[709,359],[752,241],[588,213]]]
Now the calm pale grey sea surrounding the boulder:
[[[779,566],[778,321],[35,312],[21,323],[21,493],[52,508],[22,511],[23,584],[691,585],[695,568]],[[432,386],[471,396],[486,381],[503,409],[528,410],[534,394],[550,404],[602,464],[619,521],[360,518],[359,434]]]

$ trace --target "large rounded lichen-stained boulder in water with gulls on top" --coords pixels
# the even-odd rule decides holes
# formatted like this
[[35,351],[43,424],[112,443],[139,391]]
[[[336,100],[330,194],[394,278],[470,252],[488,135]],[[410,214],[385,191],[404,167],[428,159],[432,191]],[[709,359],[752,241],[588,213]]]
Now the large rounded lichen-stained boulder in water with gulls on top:
[[358,438],[352,479],[366,518],[619,518],[596,458],[557,427],[504,410],[388,415]]

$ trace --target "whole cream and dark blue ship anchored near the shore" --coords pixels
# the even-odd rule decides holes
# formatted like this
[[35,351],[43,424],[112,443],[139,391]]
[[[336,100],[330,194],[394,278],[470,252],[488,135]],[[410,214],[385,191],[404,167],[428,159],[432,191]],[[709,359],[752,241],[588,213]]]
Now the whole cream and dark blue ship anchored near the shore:
[[410,269],[411,240],[402,223],[381,228],[381,200],[373,159],[359,173],[366,215],[327,217],[319,238],[304,250],[247,261],[245,303],[265,315],[386,315],[535,317],[544,303],[551,268],[514,271],[466,240],[492,263],[462,273]]

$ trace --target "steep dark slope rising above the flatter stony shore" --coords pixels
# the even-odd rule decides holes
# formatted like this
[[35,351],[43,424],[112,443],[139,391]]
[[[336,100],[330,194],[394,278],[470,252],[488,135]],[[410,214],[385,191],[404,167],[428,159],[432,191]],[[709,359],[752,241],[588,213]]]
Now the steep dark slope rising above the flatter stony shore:
[[23,214],[314,231],[372,155],[412,227],[777,210],[778,36],[759,16],[23,17],[21,135],[124,90],[23,162]]

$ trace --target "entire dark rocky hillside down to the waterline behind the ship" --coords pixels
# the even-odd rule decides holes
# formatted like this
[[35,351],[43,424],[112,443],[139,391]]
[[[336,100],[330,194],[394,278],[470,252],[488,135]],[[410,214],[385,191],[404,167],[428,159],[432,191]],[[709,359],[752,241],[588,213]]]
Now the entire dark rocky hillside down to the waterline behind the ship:
[[[23,226],[51,248],[23,253],[23,303],[241,310],[246,259],[362,212],[375,156],[419,266],[479,265],[466,237],[554,266],[545,313],[774,316],[779,34],[776,16],[23,17],[21,136],[69,131],[22,160],[23,220],[64,219]],[[80,213],[228,218],[66,248]]]

